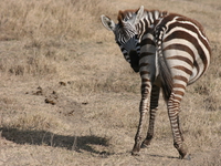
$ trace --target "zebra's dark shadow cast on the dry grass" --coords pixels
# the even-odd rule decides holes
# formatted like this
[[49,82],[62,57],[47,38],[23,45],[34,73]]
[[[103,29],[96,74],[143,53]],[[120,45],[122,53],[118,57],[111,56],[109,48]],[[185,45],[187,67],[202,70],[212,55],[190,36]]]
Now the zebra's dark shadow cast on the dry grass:
[[107,152],[95,149],[95,145],[109,146],[108,139],[95,135],[69,136],[57,135],[46,131],[22,131],[18,128],[0,128],[1,137],[17,144],[46,145],[52,147],[62,147],[69,151],[82,153],[87,151],[94,154],[109,155]]

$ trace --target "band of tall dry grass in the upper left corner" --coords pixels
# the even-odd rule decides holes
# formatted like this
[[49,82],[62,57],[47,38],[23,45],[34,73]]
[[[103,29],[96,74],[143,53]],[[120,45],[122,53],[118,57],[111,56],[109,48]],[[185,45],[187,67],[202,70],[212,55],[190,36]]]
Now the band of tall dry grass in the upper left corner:
[[101,12],[109,9],[105,4],[103,0],[2,0],[0,40],[91,39],[99,27]]

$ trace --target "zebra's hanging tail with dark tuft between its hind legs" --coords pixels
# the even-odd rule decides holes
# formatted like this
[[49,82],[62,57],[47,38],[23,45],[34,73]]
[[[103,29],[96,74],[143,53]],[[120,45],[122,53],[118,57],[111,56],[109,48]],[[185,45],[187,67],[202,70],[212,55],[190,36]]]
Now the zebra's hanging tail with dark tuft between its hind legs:
[[[161,34],[161,35],[160,35]],[[162,54],[162,34],[164,31],[160,32],[158,35],[156,45],[157,45],[157,64],[158,64],[158,73],[161,82],[161,87],[162,87],[162,94],[164,98],[167,102],[170,97],[171,91],[172,91],[172,75],[170,73],[169,66],[167,64],[166,58]]]

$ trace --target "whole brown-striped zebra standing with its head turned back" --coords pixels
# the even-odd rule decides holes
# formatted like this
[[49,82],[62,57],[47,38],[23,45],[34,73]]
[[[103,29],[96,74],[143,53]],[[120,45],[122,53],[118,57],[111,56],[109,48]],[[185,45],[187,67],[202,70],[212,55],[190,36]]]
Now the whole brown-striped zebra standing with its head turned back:
[[[189,156],[179,123],[180,103],[187,85],[196,82],[208,69],[210,46],[202,27],[197,21],[180,14],[138,10],[119,11],[115,24],[101,15],[105,28],[113,31],[126,61],[141,77],[139,124],[131,154],[150,144],[158,108],[160,87],[167,103],[173,135],[173,146],[180,158]],[[149,111],[147,136],[141,133]]]

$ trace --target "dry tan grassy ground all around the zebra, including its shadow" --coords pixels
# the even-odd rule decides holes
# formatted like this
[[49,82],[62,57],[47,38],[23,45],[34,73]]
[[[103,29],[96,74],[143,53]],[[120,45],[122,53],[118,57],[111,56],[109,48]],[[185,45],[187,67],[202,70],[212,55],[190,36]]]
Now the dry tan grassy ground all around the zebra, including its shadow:
[[[167,10],[198,20],[210,70],[187,89],[178,159],[160,98],[151,145],[131,156],[139,75],[101,23],[118,10]],[[221,1],[1,0],[0,165],[221,165]]]

